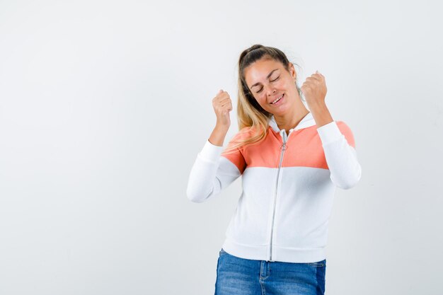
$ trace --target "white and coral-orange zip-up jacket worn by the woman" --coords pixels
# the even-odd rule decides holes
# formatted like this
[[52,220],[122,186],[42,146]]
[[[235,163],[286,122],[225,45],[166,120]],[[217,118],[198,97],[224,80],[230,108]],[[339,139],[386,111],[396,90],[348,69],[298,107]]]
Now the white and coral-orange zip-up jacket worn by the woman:
[[[205,202],[241,175],[243,192],[222,245],[227,253],[281,262],[326,259],[335,188],[347,190],[362,175],[351,129],[343,121],[317,128],[311,112],[289,135],[273,116],[268,128],[263,141],[233,154],[206,141],[190,171],[187,196]],[[238,132],[228,146],[245,136]]]

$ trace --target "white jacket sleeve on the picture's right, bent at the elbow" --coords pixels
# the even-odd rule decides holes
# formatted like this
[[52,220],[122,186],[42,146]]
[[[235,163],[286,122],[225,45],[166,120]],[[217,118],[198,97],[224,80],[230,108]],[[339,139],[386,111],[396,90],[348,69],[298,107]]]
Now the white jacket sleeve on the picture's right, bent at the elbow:
[[[352,139],[352,132],[343,125],[347,137]],[[347,139],[337,123],[330,122],[317,128],[320,136],[326,163],[330,171],[330,180],[338,187],[347,190],[355,186],[362,177],[362,167],[357,159],[355,148],[348,144]]]

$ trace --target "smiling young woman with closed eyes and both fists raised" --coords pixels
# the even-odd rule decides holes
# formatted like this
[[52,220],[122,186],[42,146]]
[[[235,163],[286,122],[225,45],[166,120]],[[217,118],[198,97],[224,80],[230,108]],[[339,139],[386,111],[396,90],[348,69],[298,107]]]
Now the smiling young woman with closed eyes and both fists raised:
[[[304,105],[301,96],[304,96]],[[226,149],[231,98],[212,99],[217,124],[189,175],[192,202],[215,197],[239,176],[243,192],[219,252],[215,294],[324,294],[328,219],[335,188],[361,177],[351,129],[325,103],[325,77],[297,85],[275,47],[238,60],[239,132]]]

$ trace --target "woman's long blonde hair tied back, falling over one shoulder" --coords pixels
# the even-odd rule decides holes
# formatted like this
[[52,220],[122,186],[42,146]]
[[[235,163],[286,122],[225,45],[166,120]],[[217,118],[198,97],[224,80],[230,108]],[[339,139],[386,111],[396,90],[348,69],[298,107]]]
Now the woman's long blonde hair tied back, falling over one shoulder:
[[[275,47],[255,44],[246,50],[243,50],[238,59],[238,99],[237,99],[237,120],[238,136],[234,137],[231,143],[226,147],[224,153],[230,154],[237,149],[246,147],[249,144],[256,144],[267,135],[269,120],[272,113],[264,110],[255,100],[251,90],[246,85],[245,69],[258,61],[259,59],[274,59],[281,62],[284,69],[289,71],[289,60],[281,50]],[[302,98],[302,93],[297,85],[297,91]],[[304,98],[302,98],[304,99]]]

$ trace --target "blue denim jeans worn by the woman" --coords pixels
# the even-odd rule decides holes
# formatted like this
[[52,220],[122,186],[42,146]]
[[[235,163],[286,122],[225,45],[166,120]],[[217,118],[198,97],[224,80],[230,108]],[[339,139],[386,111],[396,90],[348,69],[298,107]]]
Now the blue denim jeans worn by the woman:
[[325,293],[326,259],[292,263],[238,258],[220,250],[215,295]]

